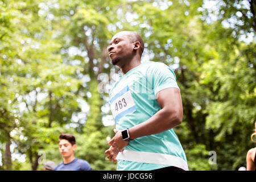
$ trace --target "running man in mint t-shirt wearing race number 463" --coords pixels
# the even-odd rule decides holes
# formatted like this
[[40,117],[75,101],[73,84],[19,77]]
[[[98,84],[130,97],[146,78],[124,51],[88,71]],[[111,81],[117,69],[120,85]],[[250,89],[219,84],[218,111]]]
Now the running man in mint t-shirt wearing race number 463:
[[122,77],[110,90],[115,136],[105,154],[117,170],[188,170],[174,128],[183,118],[174,72],[163,63],[141,63],[144,43],[137,32],[115,34],[109,44]]

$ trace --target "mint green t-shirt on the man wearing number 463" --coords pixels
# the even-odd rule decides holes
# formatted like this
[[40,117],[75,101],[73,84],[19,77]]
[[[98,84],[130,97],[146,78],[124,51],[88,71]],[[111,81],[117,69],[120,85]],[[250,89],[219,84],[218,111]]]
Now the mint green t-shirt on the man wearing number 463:
[[[179,89],[175,74],[166,64],[154,61],[145,61],[119,78],[109,94],[116,129],[128,129],[151,118],[161,109],[156,93],[167,88]],[[124,150],[138,154],[150,152],[147,153],[150,156],[167,154],[187,164],[183,147],[172,129],[131,140]],[[117,170],[152,170],[168,166],[175,165],[119,159]]]

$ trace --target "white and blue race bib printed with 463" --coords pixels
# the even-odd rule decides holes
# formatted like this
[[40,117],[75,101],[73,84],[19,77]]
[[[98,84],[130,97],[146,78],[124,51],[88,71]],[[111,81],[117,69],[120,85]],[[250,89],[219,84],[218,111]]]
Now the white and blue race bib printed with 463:
[[112,97],[110,100],[110,108],[115,118],[115,123],[126,114],[133,113],[136,110],[133,96],[131,96],[128,86]]

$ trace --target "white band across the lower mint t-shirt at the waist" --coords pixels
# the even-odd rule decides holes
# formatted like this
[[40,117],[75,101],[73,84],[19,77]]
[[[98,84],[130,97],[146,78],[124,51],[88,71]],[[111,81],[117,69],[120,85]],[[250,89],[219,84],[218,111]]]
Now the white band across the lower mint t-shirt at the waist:
[[138,163],[163,164],[167,166],[175,166],[184,169],[185,171],[188,171],[187,162],[185,162],[184,159],[181,159],[174,155],[123,150],[123,152],[119,152],[117,155],[117,160],[119,159]]

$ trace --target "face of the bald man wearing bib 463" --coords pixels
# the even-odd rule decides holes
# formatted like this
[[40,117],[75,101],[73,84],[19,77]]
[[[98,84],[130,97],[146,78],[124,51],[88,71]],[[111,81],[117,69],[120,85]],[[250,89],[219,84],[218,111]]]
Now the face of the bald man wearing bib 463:
[[113,36],[108,51],[112,64],[122,67],[123,63],[132,56],[133,43],[127,37],[127,33],[119,32]]

